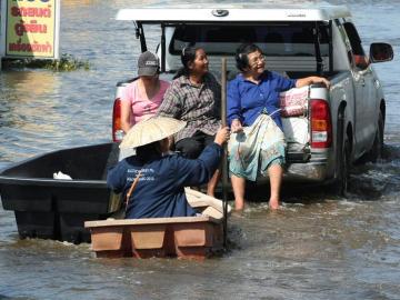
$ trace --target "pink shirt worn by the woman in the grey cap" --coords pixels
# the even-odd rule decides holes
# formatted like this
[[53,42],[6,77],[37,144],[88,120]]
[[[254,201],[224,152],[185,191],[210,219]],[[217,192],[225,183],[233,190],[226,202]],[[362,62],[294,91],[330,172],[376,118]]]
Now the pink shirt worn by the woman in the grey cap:
[[149,119],[154,116],[158,107],[161,104],[166,90],[169,87],[169,82],[160,80],[160,90],[152,98],[149,99],[146,93],[142,93],[138,84],[139,80],[134,80],[132,83],[123,89],[121,100],[128,101],[131,104],[131,126]]

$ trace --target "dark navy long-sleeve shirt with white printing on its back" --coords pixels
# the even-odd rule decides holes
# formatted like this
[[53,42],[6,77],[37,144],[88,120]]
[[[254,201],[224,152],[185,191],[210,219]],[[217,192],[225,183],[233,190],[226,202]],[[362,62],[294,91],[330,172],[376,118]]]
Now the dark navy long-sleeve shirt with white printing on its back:
[[107,174],[107,184],[123,199],[137,173],[141,177],[127,208],[127,219],[194,216],[189,206],[184,187],[207,183],[217,170],[222,148],[211,143],[198,159],[181,156],[154,157],[142,164],[137,157],[120,161]]

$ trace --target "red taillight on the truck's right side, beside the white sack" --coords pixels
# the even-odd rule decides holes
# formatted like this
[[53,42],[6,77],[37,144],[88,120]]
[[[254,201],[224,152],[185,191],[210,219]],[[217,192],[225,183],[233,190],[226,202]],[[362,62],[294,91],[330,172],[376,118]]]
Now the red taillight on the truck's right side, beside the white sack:
[[329,148],[332,142],[332,122],[329,104],[324,100],[311,100],[311,147]]

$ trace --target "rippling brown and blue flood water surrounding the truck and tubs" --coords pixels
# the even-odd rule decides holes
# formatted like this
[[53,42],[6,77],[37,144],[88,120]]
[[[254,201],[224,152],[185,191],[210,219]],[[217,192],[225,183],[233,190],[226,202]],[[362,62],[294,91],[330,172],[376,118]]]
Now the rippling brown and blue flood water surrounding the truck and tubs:
[[[60,52],[91,69],[0,72],[0,168],[109,141],[114,84],[136,73],[133,26],[113,20],[132,1],[61,2]],[[230,219],[229,252],[203,262],[96,259],[87,243],[20,240],[13,212],[0,208],[0,299],[399,299],[400,3],[347,2],[366,48],[394,49],[392,62],[374,66],[387,98],[387,157],[354,169],[347,199],[316,189],[287,196],[278,213],[251,203]]]

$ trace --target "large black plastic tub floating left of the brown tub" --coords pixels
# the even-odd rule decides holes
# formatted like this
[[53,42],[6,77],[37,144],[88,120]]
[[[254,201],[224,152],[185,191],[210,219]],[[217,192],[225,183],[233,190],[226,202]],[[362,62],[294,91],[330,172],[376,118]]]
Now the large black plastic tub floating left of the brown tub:
[[[106,186],[118,144],[101,143],[49,152],[0,171],[4,210],[13,210],[21,238],[90,242],[84,221],[108,218],[119,197]],[[72,180],[53,179],[61,171]]]

